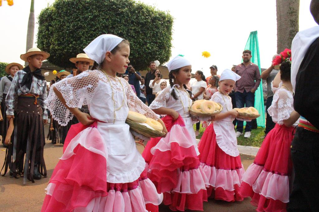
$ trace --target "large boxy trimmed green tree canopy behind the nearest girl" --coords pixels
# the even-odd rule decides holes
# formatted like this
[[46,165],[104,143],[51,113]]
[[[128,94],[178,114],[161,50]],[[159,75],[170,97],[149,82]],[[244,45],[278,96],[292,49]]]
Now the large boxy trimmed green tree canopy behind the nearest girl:
[[133,0],[56,0],[38,17],[37,46],[48,61],[72,68],[69,61],[94,38],[114,34],[130,41],[130,62],[137,70],[171,55],[173,17]]

